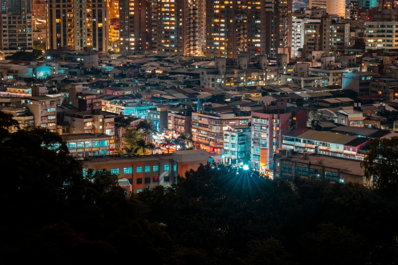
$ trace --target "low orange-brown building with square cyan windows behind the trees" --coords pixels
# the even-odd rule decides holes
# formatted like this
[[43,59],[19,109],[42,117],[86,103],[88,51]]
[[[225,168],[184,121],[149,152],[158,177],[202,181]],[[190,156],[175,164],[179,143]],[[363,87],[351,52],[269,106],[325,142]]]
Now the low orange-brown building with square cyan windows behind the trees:
[[133,185],[133,192],[158,185],[170,186],[177,182],[177,176],[185,176],[187,170],[197,170],[206,164],[209,158],[204,150],[176,151],[173,154],[145,155],[141,157],[91,157],[84,161],[84,170],[106,169],[118,174],[119,179],[128,179]]

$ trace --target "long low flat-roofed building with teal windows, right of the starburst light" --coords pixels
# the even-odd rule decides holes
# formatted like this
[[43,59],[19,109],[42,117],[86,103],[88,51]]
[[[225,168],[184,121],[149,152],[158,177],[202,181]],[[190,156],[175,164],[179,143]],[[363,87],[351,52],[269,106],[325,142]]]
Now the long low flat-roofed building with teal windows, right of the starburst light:
[[286,154],[274,156],[273,177],[292,181],[294,178],[327,179],[340,183],[358,183],[369,185],[360,161],[347,158],[331,157],[321,154]]

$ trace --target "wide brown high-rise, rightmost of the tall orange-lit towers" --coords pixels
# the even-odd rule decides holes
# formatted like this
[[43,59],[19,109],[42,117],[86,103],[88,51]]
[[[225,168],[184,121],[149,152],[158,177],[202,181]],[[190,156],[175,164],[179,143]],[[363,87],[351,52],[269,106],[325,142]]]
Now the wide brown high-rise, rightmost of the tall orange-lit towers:
[[206,0],[206,56],[290,55],[292,3]]

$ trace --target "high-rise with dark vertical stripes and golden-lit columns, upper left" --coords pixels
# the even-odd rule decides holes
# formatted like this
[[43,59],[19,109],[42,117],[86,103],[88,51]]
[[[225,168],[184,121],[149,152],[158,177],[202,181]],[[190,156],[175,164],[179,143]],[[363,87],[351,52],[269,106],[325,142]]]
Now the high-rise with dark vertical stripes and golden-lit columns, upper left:
[[105,0],[48,0],[47,49],[70,46],[108,50],[109,18]]

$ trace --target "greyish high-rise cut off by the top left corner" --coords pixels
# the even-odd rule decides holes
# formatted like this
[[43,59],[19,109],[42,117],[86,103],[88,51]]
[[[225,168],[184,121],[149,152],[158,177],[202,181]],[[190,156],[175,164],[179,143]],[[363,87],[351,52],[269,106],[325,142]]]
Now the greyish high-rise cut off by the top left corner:
[[30,0],[3,0],[0,20],[0,50],[12,54],[33,49]]

